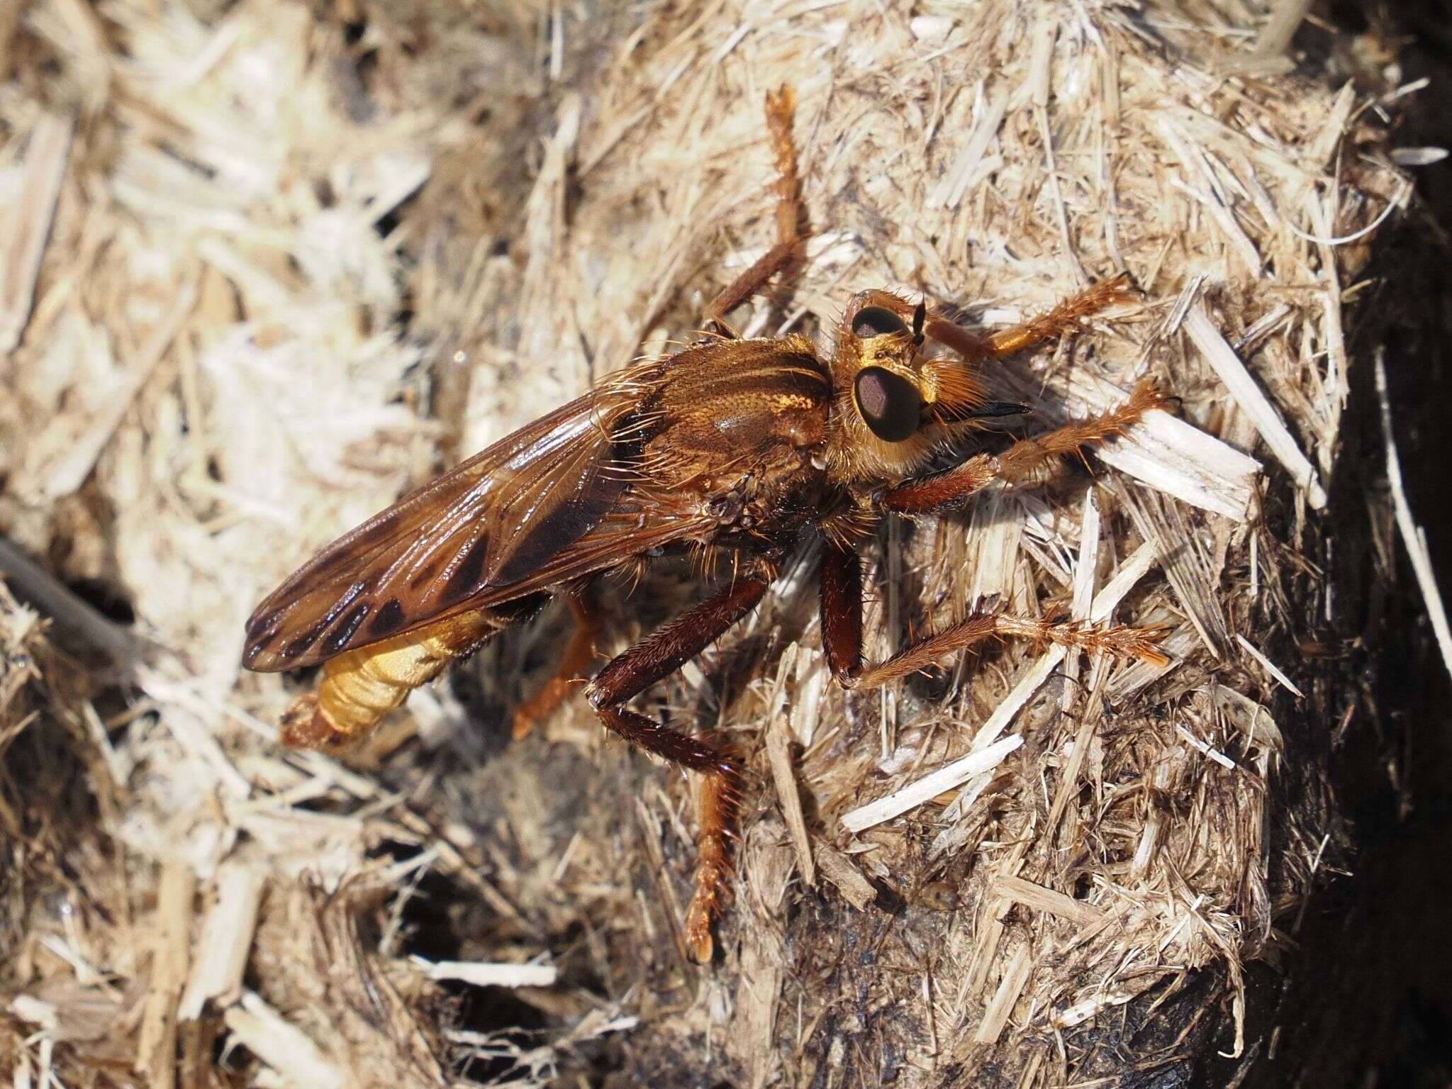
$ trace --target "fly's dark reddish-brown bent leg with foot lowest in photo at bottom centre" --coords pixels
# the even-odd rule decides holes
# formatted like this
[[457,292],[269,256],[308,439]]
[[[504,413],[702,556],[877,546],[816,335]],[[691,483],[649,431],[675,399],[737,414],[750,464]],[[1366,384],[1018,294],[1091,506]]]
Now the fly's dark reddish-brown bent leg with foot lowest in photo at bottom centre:
[[700,861],[696,870],[696,896],[685,916],[685,945],[691,958],[701,964],[711,958],[711,921],[719,909],[722,884],[730,871],[729,839],[736,828],[741,765],[732,755],[626,710],[621,704],[669,677],[716,642],[761,601],[768,585],[771,582],[764,575],[736,579],[729,588],[701,601],[613,659],[585,688],[600,720],[611,730],[658,756],[701,772]]

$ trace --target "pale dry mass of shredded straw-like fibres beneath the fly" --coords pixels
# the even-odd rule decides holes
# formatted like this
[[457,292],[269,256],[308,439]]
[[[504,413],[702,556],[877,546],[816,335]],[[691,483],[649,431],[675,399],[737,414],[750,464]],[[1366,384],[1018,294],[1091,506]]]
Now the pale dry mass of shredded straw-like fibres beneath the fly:
[[[1282,74],[1304,4],[1278,7],[0,19],[0,531],[129,603],[144,643],[126,704],[0,594],[0,1066],[1035,1086],[1244,1054],[1243,967],[1285,950],[1333,832],[1288,772],[1288,738],[1336,727],[1331,666],[1297,637],[1334,608],[1317,511],[1369,364],[1356,272],[1408,196],[1392,97]],[[348,764],[279,748],[299,682],[238,655],[261,594],[337,533],[691,335],[770,244],[761,102],[784,81],[813,235],[748,333],[825,337],[870,286],[998,325],[1128,269],[1141,305],[990,385],[1034,428],[1143,376],[1182,398],[1092,466],[889,529],[868,652],[1008,603],[1163,624],[1173,661],[1006,646],[848,697],[809,553],[652,694],[754,772],[701,971],[684,777],[603,745],[578,701],[505,743],[559,617]],[[671,571],[611,590],[601,649],[688,592]]]

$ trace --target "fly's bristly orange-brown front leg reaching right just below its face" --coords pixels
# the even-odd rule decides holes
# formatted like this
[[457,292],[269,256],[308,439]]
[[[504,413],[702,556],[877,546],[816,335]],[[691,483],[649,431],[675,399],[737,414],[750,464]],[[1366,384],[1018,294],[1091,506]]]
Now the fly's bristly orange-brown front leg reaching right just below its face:
[[1021,484],[1045,462],[1082,453],[1086,446],[1119,434],[1163,404],[1165,398],[1154,383],[1141,382],[1130,399],[1111,412],[1066,424],[1037,439],[1022,439],[1000,454],[976,454],[955,469],[889,488],[881,504],[900,514],[931,514],[957,507],[993,481]]

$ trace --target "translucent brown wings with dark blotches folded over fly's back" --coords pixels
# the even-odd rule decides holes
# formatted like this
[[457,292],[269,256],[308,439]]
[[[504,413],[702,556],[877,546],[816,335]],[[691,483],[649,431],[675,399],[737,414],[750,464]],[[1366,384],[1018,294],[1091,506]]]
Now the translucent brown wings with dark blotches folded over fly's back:
[[633,405],[619,389],[588,393],[333,542],[253,613],[242,664],[314,665],[703,529],[633,495],[617,437]]

